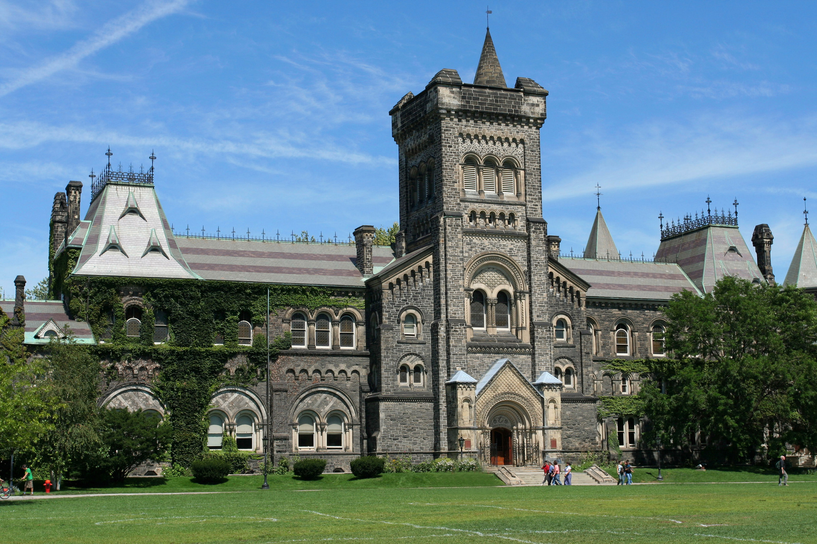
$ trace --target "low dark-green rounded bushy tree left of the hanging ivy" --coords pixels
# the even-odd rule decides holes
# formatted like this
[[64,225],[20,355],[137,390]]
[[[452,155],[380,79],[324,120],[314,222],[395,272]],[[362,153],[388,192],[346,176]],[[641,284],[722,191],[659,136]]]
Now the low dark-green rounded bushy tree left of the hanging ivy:
[[142,462],[162,458],[170,447],[171,426],[150,413],[105,409],[100,422],[106,455],[99,470],[112,480],[124,480]]

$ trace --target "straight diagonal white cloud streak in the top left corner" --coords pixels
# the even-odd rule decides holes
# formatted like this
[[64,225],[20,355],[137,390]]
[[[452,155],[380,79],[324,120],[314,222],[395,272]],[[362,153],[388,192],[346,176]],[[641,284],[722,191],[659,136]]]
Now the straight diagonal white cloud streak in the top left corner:
[[22,70],[15,79],[0,86],[0,96],[8,95],[24,86],[42,81],[63,70],[73,69],[87,56],[93,55],[96,51],[100,51],[137,32],[145,24],[181,11],[188,3],[190,3],[189,0],[171,0],[170,2],[151,0],[145,2],[135,10],[128,11],[124,15],[103,24],[99,30],[93,33],[91,38],[77,42],[68,51],[45,60],[42,64]]

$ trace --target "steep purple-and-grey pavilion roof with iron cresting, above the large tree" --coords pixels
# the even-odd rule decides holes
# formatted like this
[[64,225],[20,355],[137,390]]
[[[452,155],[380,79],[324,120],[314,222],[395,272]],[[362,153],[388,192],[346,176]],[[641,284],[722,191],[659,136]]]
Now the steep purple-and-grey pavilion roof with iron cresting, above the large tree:
[[737,227],[708,225],[661,241],[656,261],[678,263],[704,293],[724,276],[763,281]]

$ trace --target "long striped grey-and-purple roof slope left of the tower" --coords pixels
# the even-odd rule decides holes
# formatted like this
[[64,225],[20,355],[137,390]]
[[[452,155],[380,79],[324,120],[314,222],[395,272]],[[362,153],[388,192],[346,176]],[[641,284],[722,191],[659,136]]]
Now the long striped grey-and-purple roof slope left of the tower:
[[[190,268],[205,280],[363,287],[355,245],[176,237]],[[373,247],[374,272],[394,259]]]

